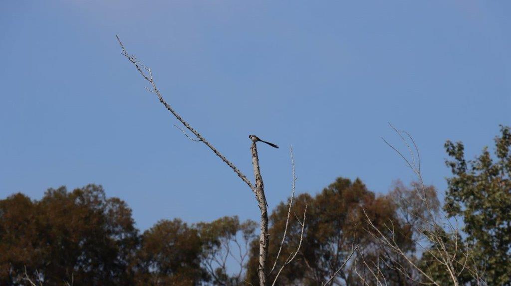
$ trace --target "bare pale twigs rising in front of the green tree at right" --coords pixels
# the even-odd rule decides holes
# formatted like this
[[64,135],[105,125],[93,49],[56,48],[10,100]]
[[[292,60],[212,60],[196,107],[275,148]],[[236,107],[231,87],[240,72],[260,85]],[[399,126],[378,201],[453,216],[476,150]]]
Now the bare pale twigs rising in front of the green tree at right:
[[[419,237],[412,238],[412,243],[423,251],[423,255],[430,255],[437,263],[439,263],[439,265],[444,267],[444,270],[446,273],[448,273],[453,285],[459,285],[458,277],[465,271],[473,276],[477,285],[484,285],[484,281],[481,279],[480,271],[478,271],[478,269],[475,267],[472,267],[471,261],[473,258],[470,246],[461,242],[459,239],[460,235],[457,219],[454,218],[455,224],[453,225],[446,214],[441,211],[438,214],[438,210],[434,210],[433,206],[430,204],[430,200],[428,198],[428,190],[424,185],[424,180],[421,173],[419,148],[415,144],[415,141],[409,133],[405,131],[399,131],[392,125],[390,125],[390,127],[400,136],[401,140],[404,142],[410,153],[410,159],[406,158],[405,155],[401,153],[401,151],[388,143],[385,139],[382,139],[388,146],[396,151],[401,158],[403,158],[407,166],[419,179],[419,184],[414,185],[415,192],[424,204],[427,211],[426,214],[409,214],[413,218],[414,225],[412,226],[416,228],[417,233],[420,233]],[[405,134],[412,142],[413,148],[410,144],[408,144],[403,134]],[[417,159],[415,159],[415,157]],[[398,261],[398,259],[392,258],[393,255],[386,255],[385,257],[382,257],[382,264],[385,267],[400,272],[407,279],[417,284],[440,285],[439,282],[435,280],[432,273],[426,272],[426,270],[418,265],[415,259],[412,259],[408,253],[398,244],[396,239],[397,233],[391,223],[384,224],[384,229],[380,229],[369,219],[369,216],[365,213],[365,211],[364,215],[368,225],[366,231],[370,233],[377,244],[383,247],[386,251],[389,251],[397,257],[402,258],[402,260]],[[365,262],[363,263],[365,264]],[[419,273],[418,277],[415,277],[409,271],[407,271],[409,267],[412,267],[414,271]],[[369,267],[369,265],[365,264],[365,268],[369,270],[377,285],[386,284],[386,280],[382,277],[383,272],[380,271],[379,265],[373,265],[373,267]],[[376,271],[373,269],[376,269]],[[361,275],[359,275],[359,277],[362,279]],[[365,278],[362,280],[364,284],[366,284]]]

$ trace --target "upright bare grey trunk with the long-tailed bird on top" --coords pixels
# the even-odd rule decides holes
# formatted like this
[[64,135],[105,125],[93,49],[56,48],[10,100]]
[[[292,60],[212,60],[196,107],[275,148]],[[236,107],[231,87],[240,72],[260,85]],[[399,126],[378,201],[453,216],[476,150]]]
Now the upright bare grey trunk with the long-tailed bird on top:
[[259,157],[257,153],[256,142],[252,142],[250,151],[252,152],[252,166],[254,169],[255,177],[255,196],[259,202],[259,209],[261,210],[261,235],[259,237],[259,285],[266,285],[266,261],[268,259],[268,209],[266,203],[266,196],[264,195],[263,177],[259,169]]

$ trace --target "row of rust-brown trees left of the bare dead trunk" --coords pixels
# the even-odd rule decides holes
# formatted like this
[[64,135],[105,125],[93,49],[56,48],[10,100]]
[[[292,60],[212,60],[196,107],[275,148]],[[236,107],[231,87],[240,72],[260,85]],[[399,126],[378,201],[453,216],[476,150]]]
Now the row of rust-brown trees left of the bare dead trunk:
[[[14,194],[0,200],[0,285],[25,285],[25,275],[44,285],[237,285],[255,228],[236,216],[174,219],[138,235],[126,203],[101,186],[49,189],[41,200]],[[228,274],[226,256],[239,273]]]

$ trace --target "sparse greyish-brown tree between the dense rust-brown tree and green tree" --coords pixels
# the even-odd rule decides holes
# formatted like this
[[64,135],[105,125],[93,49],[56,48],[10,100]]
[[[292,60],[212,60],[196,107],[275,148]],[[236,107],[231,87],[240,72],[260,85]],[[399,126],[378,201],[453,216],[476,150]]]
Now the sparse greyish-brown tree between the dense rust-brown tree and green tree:
[[[395,228],[391,221],[380,221],[375,226],[387,238],[396,241],[396,245],[406,257],[396,253],[388,244],[381,243],[379,240],[371,241],[371,244],[374,245],[374,251],[368,254],[370,257],[368,259],[369,263],[365,258],[366,261],[360,261],[357,265],[359,274],[365,270],[364,279],[374,280],[373,273],[377,273],[382,276],[381,283],[386,281],[392,285],[419,284],[415,281],[422,279],[421,274],[410,262],[419,264],[420,259],[417,251],[422,252],[423,249],[417,246],[423,244],[424,230],[428,229],[433,219],[438,216],[440,203],[436,194],[437,191],[433,186],[424,186],[423,188],[422,184],[417,181],[412,181],[409,186],[405,186],[401,180],[393,182],[391,191],[385,197],[387,201],[393,204],[401,227]],[[393,235],[389,233],[389,229],[392,229]],[[368,228],[367,230],[371,235],[378,237],[374,228]],[[397,236],[396,233],[398,233]],[[368,273],[370,271],[373,271],[373,273]],[[360,282],[357,283],[363,285]]]

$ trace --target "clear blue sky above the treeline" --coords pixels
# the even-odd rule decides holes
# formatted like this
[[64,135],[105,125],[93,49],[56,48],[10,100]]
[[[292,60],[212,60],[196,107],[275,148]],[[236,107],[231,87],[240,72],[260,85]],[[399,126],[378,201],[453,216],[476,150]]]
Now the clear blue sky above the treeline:
[[468,157],[511,124],[507,1],[2,1],[0,197],[104,186],[144,230],[159,219],[257,219],[246,185],[145,91],[115,34],[167,101],[247,176],[261,146],[270,208],[336,177],[378,193],[413,179],[380,137],[412,134],[445,191],[445,140]]

